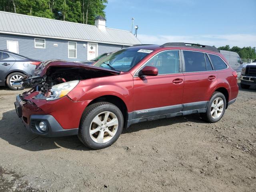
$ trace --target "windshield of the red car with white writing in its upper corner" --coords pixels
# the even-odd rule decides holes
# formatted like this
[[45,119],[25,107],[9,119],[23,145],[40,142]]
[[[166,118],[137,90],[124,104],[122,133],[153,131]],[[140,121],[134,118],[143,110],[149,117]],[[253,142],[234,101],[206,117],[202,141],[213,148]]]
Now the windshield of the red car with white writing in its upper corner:
[[140,62],[150,52],[152,52],[152,50],[142,50],[136,48],[122,49],[106,56],[105,58],[102,58],[93,65],[111,70],[126,72],[135,66],[138,62]]

